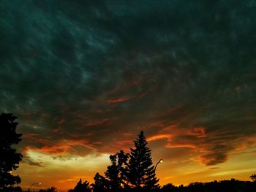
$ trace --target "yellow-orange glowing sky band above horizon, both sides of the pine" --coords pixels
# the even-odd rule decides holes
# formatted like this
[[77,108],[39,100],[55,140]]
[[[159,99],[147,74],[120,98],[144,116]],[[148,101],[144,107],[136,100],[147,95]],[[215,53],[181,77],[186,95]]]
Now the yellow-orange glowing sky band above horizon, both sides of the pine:
[[[165,139],[165,136],[148,138],[148,145],[152,149],[155,164],[157,163],[156,159],[161,158],[162,153],[162,150],[156,150],[157,146],[154,145],[154,142],[159,139]],[[74,142],[73,144],[77,143],[80,142]],[[178,146],[178,148],[180,147]],[[177,147],[174,147],[170,150],[176,149]],[[184,146],[184,150],[186,150],[186,146]],[[29,164],[20,164],[19,169],[13,174],[20,174],[22,179],[20,186],[22,188],[26,189],[31,183],[39,182],[42,183],[40,188],[55,186],[61,190],[68,190],[74,188],[80,178],[83,181],[87,180],[89,183],[93,183],[96,172],[104,174],[106,167],[110,164],[108,159],[110,154],[107,153],[91,154],[85,157],[71,155],[67,158],[54,158],[53,152],[54,150],[33,150],[31,148],[26,150],[26,156],[34,160],[40,159],[42,166],[33,169],[34,166]],[[187,160],[181,156],[176,158],[165,157],[164,163],[157,167],[157,177],[160,179],[160,185],[167,183],[188,185],[194,182],[230,180],[231,178],[249,180],[249,175],[255,172],[255,169],[252,169],[252,164],[255,164],[252,155],[255,155],[255,147],[242,150],[239,154],[233,153],[225,163],[214,166],[200,164],[197,158],[193,158],[189,154],[187,154]]]

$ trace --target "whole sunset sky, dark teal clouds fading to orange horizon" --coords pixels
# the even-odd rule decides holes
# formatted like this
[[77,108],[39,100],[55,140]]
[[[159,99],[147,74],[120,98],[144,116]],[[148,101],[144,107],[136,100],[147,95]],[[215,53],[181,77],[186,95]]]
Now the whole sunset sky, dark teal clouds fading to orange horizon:
[[[73,188],[145,131],[159,183],[256,172],[256,3],[0,1],[23,188]],[[34,186],[39,188],[39,186]]]

